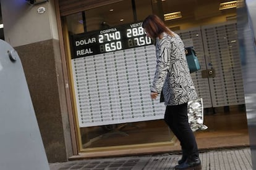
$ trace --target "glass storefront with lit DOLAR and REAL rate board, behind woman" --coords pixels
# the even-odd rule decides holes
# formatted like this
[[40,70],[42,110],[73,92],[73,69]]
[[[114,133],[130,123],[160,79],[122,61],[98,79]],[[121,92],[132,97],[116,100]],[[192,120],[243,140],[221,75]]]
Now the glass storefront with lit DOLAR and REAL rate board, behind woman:
[[155,49],[141,26],[149,14],[192,44],[200,60],[192,78],[208,129],[195,132],[198,147],[249,145],[236,1],[221,2],[59,2],[79,157],[179,150],[164,105],[149,97]]

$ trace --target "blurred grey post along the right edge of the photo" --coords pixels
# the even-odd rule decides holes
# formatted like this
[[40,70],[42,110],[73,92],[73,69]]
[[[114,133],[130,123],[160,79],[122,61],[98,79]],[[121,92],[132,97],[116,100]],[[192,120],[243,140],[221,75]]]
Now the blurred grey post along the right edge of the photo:
[[242,63],[245,107],[252,155],[252,168],[256,169],[256,1],[237,1],[237,30]]

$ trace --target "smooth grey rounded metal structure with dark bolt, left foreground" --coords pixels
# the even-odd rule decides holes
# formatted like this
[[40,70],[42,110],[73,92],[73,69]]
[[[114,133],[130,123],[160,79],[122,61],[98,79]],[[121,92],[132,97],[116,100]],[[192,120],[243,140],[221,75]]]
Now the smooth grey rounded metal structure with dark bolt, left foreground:
[[0,40],[0,169],[49,170],[17,52]]

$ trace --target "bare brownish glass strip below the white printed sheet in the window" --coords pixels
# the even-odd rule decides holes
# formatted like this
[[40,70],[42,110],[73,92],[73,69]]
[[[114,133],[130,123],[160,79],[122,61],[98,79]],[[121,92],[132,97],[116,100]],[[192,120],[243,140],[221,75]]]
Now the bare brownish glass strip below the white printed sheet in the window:
[[83,148],[171,142],[173,132],[163,120],[80,128]]

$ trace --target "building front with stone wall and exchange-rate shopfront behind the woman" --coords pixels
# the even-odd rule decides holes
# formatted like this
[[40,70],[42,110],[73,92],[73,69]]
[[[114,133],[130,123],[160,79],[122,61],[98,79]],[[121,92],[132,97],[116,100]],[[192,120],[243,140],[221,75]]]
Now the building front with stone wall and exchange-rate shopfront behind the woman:
[[248,146],[238,5],[1,1],[4,39],[22,60],[48,161],[180,150],[164,105],[149,97],[155,49],[142,29],[149,14],[197,52],[202,69],[192,78],[208,126],[195,132],[198,147]]

